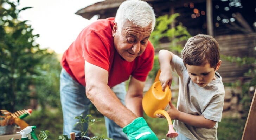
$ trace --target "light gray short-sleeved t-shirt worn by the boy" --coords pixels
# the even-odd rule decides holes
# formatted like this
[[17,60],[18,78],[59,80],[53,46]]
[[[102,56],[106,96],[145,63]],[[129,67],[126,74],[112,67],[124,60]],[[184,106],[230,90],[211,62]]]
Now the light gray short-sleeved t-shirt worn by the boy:
[[[206,119],[221,120],[224,104],[224,85],[222,77],[215,72],[216,80],[211,81],[205,87],[199,87],[194,83],[187,72],[180,57],[172,58],[172,70],[179,75],[179,97],[177,109],[192,115],[202,115]],[[199,128],[190,126],[181,121],[174,120],[173,127],[187,138],[192,140],[217,140],[218,123],[211,128]]]

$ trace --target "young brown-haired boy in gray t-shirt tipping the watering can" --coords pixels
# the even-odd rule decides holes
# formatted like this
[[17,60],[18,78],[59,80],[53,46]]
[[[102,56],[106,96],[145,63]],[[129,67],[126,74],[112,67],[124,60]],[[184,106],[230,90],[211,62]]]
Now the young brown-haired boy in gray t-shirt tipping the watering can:
[[179,134],[177,140],[217,140],[225,94],[222,77],[216,72],[221,64],[219,44],[199,34],[188,39],[181,56],[167,50],[160,50],[158,56],[163,90],[171,86],[172,71],[179,76],[177,109],[170,102],[167,110]]

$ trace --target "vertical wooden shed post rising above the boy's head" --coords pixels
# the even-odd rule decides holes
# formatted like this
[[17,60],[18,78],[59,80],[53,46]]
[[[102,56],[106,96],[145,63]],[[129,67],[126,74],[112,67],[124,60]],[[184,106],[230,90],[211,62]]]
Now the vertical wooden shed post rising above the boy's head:
[[213,37],[212,0],[206,0],[207,34]]

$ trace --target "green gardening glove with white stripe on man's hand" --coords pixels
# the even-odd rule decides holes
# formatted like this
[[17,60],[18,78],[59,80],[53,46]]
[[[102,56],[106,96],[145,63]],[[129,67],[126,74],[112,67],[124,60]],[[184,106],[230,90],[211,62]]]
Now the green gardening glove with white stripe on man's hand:
[[138,117],[123,128],[129,140],[158,140],[143,117]]

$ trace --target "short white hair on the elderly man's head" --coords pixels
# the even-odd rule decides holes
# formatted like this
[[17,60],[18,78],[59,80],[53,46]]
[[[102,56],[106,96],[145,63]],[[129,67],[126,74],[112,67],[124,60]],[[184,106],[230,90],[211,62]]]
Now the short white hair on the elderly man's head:
[[117,28],[122,28],[124,22],[132,22],[137,27],[147,27],[151,25],[152,30],[155,27],[155,13],[153,8],[145,1],[127,0],[124,1],[116,12],[115,22]]

